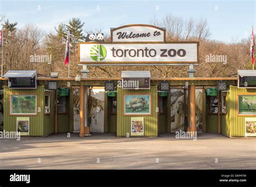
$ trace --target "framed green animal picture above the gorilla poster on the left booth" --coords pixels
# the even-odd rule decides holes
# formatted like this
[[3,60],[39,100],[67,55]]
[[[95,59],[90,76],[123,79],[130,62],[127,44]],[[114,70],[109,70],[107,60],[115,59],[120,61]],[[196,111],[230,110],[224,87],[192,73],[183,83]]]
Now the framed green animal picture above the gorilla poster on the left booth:
[[11,114],[36,114],[36,95],[11,95]]

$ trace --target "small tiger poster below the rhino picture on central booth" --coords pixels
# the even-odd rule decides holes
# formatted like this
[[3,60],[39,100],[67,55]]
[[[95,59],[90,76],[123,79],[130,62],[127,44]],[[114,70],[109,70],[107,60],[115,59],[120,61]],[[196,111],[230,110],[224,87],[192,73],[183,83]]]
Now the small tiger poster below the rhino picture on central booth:
[[144,135],[144,118],[131,117],[131,135],[143,136]]

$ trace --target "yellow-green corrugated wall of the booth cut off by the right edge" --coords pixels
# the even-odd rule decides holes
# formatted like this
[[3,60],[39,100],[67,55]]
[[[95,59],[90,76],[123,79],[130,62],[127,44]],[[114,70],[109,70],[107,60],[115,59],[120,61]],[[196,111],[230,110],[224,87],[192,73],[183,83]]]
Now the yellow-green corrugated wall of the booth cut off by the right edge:
[[245,136],[245,116],[237,116],[237,94],[255,92],[256,89],[244,89],[237,88],[236,86],[230,86],[230,92],[227,93],[227,118],[225,128],[226,135]]

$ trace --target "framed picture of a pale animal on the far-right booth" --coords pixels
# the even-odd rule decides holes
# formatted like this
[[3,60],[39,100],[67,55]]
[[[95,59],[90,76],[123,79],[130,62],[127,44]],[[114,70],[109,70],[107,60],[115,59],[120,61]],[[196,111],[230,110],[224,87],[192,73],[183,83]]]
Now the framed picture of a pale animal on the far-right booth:
[[238,114],[256,115],[256,95],[238,95]]

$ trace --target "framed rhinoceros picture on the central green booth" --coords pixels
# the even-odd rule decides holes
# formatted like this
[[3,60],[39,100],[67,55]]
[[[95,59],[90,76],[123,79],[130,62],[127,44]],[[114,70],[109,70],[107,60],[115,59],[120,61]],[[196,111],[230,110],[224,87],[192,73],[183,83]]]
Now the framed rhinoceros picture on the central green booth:
[[124,115],[151,115],[151,95],[124,95]]

